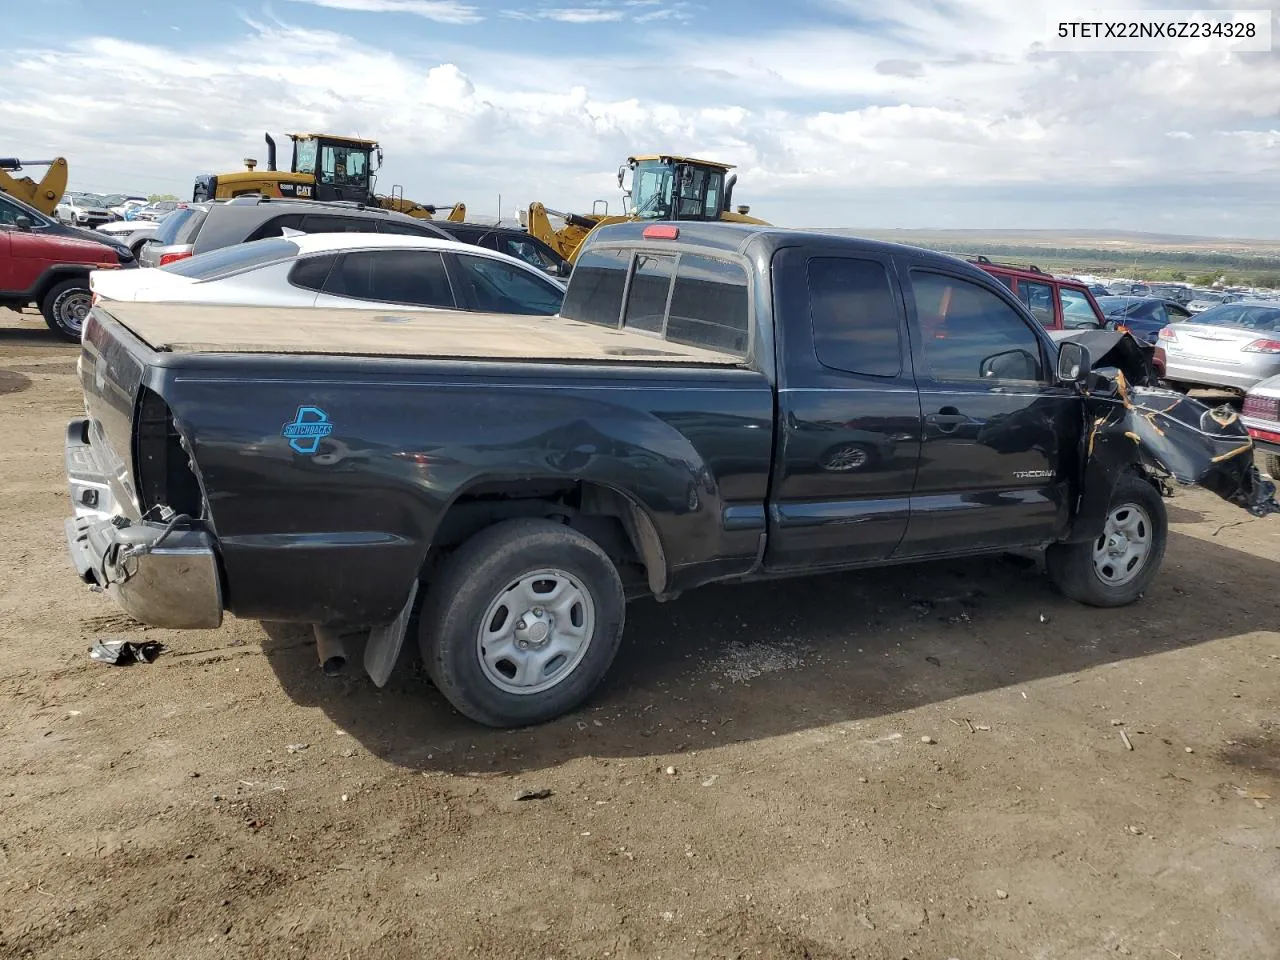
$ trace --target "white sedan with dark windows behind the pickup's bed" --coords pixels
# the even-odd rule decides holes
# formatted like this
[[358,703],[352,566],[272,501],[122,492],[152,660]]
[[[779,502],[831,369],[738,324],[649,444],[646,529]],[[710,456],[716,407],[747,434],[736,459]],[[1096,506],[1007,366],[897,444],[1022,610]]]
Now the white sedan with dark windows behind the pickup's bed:
[[90,289],[95,300],[544,316],[564,300],[562,282],[506,253],[387,233],[269,237],[157,269],[95,270]]

